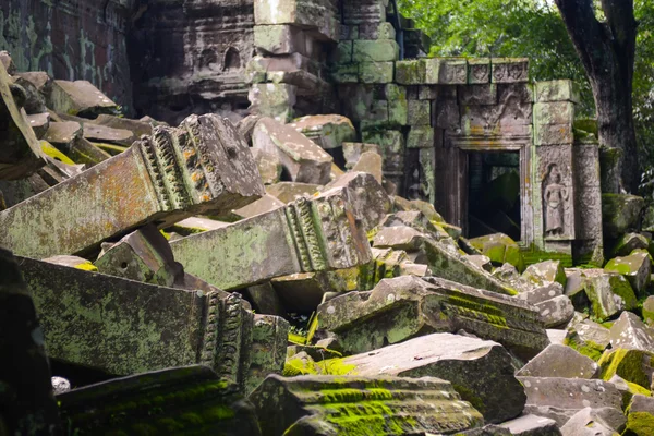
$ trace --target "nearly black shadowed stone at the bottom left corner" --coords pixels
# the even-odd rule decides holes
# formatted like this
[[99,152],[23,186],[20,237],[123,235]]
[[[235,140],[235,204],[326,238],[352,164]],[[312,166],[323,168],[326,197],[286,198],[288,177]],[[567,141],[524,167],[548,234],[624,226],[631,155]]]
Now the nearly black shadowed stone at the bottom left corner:
[[59,423],[43,330],[19,264],[0,247],[0,432],[55,435]]

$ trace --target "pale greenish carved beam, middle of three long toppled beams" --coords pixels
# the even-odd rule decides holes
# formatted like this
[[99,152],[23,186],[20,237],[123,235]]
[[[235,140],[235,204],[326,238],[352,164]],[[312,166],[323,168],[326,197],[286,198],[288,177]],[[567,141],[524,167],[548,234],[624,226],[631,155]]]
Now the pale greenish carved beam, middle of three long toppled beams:
[[170,243],[184,270],[223,290],[371,261],[347,189]]

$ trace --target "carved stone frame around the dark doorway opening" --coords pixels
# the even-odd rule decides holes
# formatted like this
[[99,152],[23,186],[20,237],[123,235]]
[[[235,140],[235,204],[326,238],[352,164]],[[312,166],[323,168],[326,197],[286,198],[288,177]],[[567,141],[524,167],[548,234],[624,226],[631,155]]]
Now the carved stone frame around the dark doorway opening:
[[[534,202],[540,203],[540,196],[534,195],[536,180],[535,147],[532,135],[458,135],[446,132],[445,153],[450,157],[449,170],[443,174],[441,182],[453,182],[450,185],[450,195],[446,209],[446,218],[450,222],[468,229],[468,153],[469,152],[519,152],[520,153],[520,241],[521,247],[529,247],[534,243]],[[447,167],[446,167],[447,168]],[[446,169],[444,168],[444,169]],[[452,177],[453,175],[453,177]],[[438,175],[437,175],[438,178]],[[540,220],[537,220],[540,222]]]

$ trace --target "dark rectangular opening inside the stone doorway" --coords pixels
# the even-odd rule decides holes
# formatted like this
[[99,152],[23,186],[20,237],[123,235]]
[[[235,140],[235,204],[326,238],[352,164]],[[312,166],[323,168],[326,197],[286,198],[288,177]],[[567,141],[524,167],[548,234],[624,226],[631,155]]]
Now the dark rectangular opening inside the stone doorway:
[[468,153],[468,235],[521,232],[520,153]]

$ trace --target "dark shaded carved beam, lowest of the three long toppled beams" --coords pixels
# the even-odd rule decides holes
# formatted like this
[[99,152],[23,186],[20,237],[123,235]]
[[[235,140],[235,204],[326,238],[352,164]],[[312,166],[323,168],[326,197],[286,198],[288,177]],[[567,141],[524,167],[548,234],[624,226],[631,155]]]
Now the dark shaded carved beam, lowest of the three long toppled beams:
[[253,314],[238,294],[20,263],[51,359],[116,376],[199,363],[243,390],[283,367],[288,323]]

